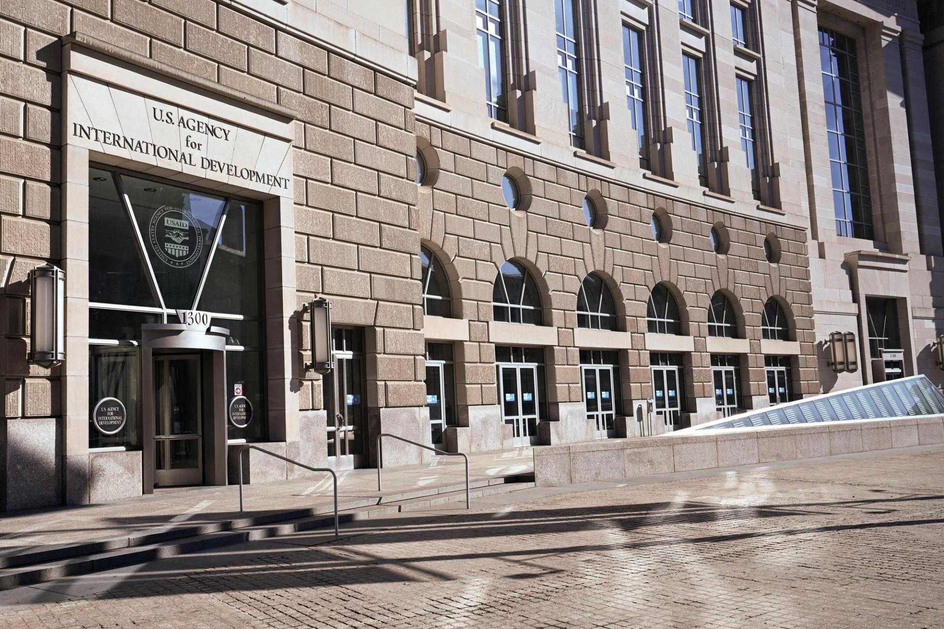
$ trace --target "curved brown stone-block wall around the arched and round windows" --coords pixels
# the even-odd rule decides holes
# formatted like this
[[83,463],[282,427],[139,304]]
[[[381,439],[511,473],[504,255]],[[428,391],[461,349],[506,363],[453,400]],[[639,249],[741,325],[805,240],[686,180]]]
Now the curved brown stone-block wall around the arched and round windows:
[[[761,320],[767,298],[784,304],[802,356],[794,378],[802,394],[818,390],[814,349],[813,306],[802,229],[765,223],[629,189],[614,181],[557,167],[472,140],[435,124],[417,124],[421,144],[429,143],[430,162],[438,162],[434,186],[419,194],[420,235],[451,266],[453,315],[469,319],[470,340],[459,343],[457,399],[460,405],[497,404],[495,346],[487,341],[492,320],[492,285],[498,267],[515,258],[529,267],[545,306],[545,323],[559,327],[559,344],[548,348],[548,401],[580,402],[579,348],[574,346],[577,295],[587,273],[603,276],[617,304],[617,329],[632,334],[631,351],[620,352],[624,398],[648,398],[649,352],[645,350],[646,309],[651,288],[664,281],[681,296],[684,333],[695,337],[695,352],[686,363],[688,406],[694,397],[713,397],[710,355],[706,352],[708,306],[716,290],[731,297],[750,339],[747,368],[750,395],[765,395],[764,356],[760,354]],[[500,189],[511,172],[519,187],[531,190],[524,211],[508,209]],[[523,180],[524,179],[524,180]],[[525,184],[521,186],[520,184]],[[597,198],[603,229],[583,220],[582,200]],[[671,240],[657,244],[649,219],[666,210]],[[730,237],[724,256],[710,247],[709,231],[722,223]],[[668,225],[666,225],[667,227]],[[771,265],[763,253],[767,234],[779,239],[783,253]],[[553,366],[551,366],[553,365]]]

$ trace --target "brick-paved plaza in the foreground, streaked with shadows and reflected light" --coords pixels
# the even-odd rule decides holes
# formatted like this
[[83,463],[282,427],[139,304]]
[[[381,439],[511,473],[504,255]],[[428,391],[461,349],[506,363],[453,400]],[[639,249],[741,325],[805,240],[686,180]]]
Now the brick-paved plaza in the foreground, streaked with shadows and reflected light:
[[944,451],[923,450],[529,489],[11,590],[0,626],[941,627]]

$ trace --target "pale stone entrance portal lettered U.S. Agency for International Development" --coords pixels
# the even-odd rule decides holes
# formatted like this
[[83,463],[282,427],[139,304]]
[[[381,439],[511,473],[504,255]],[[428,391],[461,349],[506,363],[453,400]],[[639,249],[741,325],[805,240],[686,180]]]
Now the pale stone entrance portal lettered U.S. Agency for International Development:
[[67,501],[226,484],[235,447],[298,439],[294,113],[82,34],[63,55]]

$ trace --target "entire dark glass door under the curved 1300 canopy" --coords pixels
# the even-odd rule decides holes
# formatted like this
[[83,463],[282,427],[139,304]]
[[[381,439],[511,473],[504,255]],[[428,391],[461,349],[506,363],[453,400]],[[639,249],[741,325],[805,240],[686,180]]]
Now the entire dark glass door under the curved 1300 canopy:
[[200,356],[154,358],[154,485],[203,483]]

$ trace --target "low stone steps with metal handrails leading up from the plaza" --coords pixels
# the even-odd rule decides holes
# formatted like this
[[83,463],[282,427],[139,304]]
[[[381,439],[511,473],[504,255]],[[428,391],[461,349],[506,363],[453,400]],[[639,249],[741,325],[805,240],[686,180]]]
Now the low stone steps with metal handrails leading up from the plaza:
[[[472,499],[534,487],[532,472],[474,479]],[[397,513],[441,508],[465,500],[465,483],[384,492],[380,496],[340,496],[338,516],[344,524]],[[221,517],[222,516],[222,517]],[[78,543],[42,544],[0,551],[0,589],[53,581],[66,576],[108,571],[143,564],[154,559],[186,555],[265,538],[323,529],[325,540],[333,536],[334,513],[330,505],[267,510],[251,514],[234,511],[217,514],[213,521],[162,525],[121,537]]]

